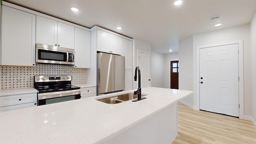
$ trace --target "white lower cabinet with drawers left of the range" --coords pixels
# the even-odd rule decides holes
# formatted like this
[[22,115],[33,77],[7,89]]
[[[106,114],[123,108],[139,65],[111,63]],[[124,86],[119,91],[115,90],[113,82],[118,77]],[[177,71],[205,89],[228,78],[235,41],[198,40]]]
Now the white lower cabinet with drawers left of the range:
[[0,112],[37,106],[37,93],[0,97]]

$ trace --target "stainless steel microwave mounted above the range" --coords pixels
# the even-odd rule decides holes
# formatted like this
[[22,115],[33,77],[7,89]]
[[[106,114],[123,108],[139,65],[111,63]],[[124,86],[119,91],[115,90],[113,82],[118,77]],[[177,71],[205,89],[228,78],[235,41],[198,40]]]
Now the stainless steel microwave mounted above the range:
[[75,50],[46,44],[36,44],[36,63],[75,64]]

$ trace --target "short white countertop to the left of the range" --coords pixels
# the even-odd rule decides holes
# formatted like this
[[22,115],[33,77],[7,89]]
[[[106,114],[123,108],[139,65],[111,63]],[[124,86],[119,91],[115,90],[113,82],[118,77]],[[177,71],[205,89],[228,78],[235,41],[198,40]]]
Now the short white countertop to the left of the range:
[[37,93],[38,91],[35,88],[23,88],[23,89],[12,89],[12,90],[0,90],[1,96],[12,96],[16,94],[31,94]]

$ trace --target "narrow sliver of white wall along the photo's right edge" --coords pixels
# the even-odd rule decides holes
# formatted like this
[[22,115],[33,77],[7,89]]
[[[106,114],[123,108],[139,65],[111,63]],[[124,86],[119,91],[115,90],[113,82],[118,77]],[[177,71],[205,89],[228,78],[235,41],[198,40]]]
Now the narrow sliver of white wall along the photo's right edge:
[[251,72],[251,84],[252,84],[252,101],[251,101],[251,105],[252,105],[252,118],[253,118],[253,122],[254,122],[254,126],[256,128],[256,90],[254,88],[256,88],[256,13],[254,15],[254,18],[252,19],[251,22],[251,68],[252,68],[252,72]]

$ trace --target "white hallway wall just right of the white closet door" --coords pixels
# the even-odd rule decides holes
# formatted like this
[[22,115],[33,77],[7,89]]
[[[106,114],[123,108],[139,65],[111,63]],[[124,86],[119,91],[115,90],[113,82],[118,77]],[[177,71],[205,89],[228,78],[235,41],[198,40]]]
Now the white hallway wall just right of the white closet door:
[[164,88],[164,54],[151,52],[151,86]]

